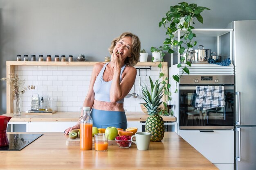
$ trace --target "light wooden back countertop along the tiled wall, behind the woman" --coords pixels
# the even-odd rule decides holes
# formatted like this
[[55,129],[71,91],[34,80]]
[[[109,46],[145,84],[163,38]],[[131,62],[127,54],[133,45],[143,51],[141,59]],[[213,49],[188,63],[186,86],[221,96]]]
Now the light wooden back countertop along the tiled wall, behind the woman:
[[[13,116],[10,114],[3,114],[2,116],[11,116],[10,122],[76,122],[80,117],[80,112],[56,112],[52,115],[26,115],[21,113],[21,116]],[[148,115],[144,112],[126,112],[127,121],[144,122]],[[174,116],[162,116],[164,121],[174,122]]]

